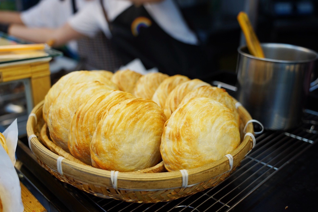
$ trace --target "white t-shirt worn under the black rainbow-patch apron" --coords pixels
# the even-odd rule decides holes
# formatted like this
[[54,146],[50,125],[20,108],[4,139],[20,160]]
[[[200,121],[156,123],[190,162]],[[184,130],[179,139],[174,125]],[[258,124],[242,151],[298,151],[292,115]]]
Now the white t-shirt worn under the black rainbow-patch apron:
[[[128,0],[104,0],[109,21],[113,21],[131,5],[132,3]],[[190,30],[180,10],[172,0],[145,3],[144,7],[162,30],[171,37],[183,43],[194,45],[198,43],[196,35]],[[90,2],[83,10],[73,16],[68,23],[75,31],[86,36],[93,37],[100,30],[108,38],[112,36],[99,1]]]

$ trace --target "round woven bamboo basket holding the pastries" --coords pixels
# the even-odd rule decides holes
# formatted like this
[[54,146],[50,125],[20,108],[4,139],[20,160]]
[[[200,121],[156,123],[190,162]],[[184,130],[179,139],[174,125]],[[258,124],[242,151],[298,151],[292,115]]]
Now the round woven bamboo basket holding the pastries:
[[[44,126],[43,104],[44,102],[39,103],[32,110],[36,117],[29,116],[27,122],[27,134],[32,152],[36,155],[39,164],[60,181],[95,196],[139,203],[170,201],[214,187],[231,174],[229,159],[223,157],[202,167],[188,169],[188,181],[187,184],[184,184],[185,178],[180,171],[160,172],[164,171],[161,163],[150,168],[150,171],[118,173],[117,189],[114,189],[114,178],[111,178],[111,171],[88,166],[61,148],[56,148],[56,145],[54,146],[54,143],[49,140]],[[238,107],[238,112],[242,125],[252,119],[243,106]],[[247,132],[254,134],[252,123],[246,126]],[[36,135],[36,137],[31,135]],[[233,156],[232,170],[239,166],[240,161],[253,147],[251,136],[243,137],[244,134],[239,147],[231,153]],[[62,174],[58,171],[59,156],[65,157],[60,165]],[[159,173],[143,173],[143,171]]]

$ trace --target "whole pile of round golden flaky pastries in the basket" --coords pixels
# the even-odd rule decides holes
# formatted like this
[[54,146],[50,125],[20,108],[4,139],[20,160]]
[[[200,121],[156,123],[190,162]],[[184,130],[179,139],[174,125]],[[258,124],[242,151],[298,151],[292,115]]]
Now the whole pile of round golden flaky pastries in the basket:
[[240,143],[232,97],[182,75],[75,71],[49,90],[43,116],[52,142],[106,170],[196,168]]

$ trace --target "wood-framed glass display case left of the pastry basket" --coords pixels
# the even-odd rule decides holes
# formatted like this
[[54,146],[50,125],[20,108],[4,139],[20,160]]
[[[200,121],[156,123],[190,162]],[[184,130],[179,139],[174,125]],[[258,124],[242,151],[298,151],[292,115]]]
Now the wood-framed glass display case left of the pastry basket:
[[[0,32],[4,45],[28,44]],[[0,131],[17,118],[19,136],[26,135],[26,122],[32,108],[51,87],[49,62],[62,53],[44,50],[0,51]]]

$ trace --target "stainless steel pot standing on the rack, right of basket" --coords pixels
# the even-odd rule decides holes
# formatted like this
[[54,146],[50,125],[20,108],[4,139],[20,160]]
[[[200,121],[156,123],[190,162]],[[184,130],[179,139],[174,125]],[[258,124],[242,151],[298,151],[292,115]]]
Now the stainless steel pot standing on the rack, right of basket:
[[294,128],[301,123],[318,54],[289,44],[261,46],[266,58],[238,48],[238,100],[266,129]]

